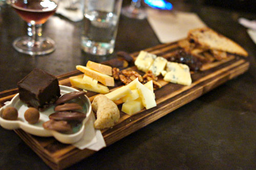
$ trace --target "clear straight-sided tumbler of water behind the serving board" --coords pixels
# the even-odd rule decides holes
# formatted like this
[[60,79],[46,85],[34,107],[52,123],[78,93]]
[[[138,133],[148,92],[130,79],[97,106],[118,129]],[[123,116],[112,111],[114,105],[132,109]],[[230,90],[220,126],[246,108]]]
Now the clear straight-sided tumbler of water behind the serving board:
[[114,51],[122,0],[85,0],[82,50],[94,55]]

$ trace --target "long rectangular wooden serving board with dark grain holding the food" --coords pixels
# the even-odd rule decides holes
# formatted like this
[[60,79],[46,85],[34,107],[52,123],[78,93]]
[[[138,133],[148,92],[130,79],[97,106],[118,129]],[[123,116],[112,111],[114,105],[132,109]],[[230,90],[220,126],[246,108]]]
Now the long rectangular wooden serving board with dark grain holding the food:
[[[178,50],[177,42],[161,44],[148,48],[145,51],[156,54],[157,56],[169,57],[176,50]],[[138,53],[132,54],[133,57],[137,55]],[[163,80],[159,80],[163,87],[155,90],[157,106],[149,110],[143,109],[133,116],[120,112],[119,122],[111,129],[102,130],[106,145],[108,146],[118,141],[186,103],[193,101],[207,91],[243,74],[248,68],[248,61],[242,57],[233,56],[228,60],[204,67],[204,71],[192,73],[191,78],[193,83],[190,86],[166,83]],[[133,66],[128,69],[136,69],[136,67]],[[70,86],[69,77],[79,74],[81,72],[76,70],[59,76],[59,83]],[[121,83],[117,83],[116,87],[119,85]],[[0,92],[0,105],[4,106],[4,103],[10,101],[16,93],[17,89]],[[94,92],[88,92],[87,95],[93,100],[93,96],[96,94]],[[119,108],[121,108],[121,105],[119,105]],[[15,130],[15,132],[53,169],[62,169],[71,166],[95,153],[95,151],[88,149],[79,150],[71,144],[60,143],[53,137],[33,136],[20,129]]]

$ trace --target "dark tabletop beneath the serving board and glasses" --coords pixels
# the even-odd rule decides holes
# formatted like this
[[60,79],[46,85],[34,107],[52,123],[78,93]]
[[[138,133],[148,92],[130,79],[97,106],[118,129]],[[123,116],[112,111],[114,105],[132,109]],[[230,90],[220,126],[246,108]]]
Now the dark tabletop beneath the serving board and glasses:
[[[124,5],[129,2],[124,2]],[[204,94],[156,122],[80,161],[70,169],[255,169],[256,168],[256,45],[237,19],[255,19],[207,6],[175,4],[176,10],[196,12],[210,28],[240,43],[249,53],[249,70]],[[12,47],[26,34],[26,23],[10,8],[0,11],[0,91],[16,83],[33,68],[62,75],[104,61],[80,50],[82,22],[59,15],[44,25],[44,35],[57,44],[50,55],[31,57]],[[116,51],[129,53],[160,44],[147,20],[120,17]],[[0,169],[49,167],[13,131],[0,128]]]

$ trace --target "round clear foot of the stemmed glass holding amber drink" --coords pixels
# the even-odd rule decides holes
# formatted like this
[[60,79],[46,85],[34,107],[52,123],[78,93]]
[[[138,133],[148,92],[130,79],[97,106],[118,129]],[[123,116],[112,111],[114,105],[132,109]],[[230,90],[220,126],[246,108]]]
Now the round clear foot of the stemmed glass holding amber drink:
[[18,37],[12,43],[12,46],[19,53],[35,55],[46,55],[55,50],[55,42],[48,37],[40,37],[38,41],[33,42],[29,36]]

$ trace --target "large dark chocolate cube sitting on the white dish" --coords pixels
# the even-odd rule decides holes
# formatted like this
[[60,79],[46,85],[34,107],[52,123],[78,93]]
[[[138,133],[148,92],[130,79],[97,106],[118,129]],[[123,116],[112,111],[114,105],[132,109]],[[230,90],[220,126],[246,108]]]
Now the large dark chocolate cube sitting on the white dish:
[[19,99],[29,107],[40,110],[53,104],[60,96],[57,78],[37,68],[19,81],[17,86]]

